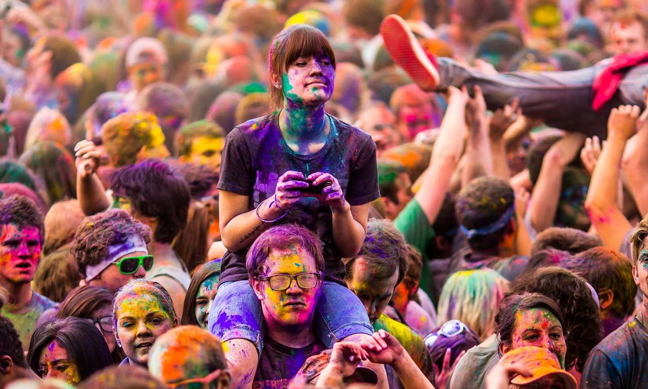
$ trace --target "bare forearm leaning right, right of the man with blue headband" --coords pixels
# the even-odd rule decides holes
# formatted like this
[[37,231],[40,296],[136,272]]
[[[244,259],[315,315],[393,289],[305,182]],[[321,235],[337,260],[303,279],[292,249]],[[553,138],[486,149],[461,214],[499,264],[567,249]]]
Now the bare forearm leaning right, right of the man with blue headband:
[[579,153],[584,141],[584,134],[568,132],[544,155],[538,181],[531,193],[531,223],[538,233],[553,224],[561,196],[562,172]]

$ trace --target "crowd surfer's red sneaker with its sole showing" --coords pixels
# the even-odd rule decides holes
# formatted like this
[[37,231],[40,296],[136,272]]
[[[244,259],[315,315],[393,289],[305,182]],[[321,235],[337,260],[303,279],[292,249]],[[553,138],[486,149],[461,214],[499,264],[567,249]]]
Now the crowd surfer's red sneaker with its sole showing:
[[439,71],[434,56],[416,40],[406,21],[398,15],[388,15],[380,24],[380,35],[389,56],[410,75],[424,91],[434,91],[439,85]]

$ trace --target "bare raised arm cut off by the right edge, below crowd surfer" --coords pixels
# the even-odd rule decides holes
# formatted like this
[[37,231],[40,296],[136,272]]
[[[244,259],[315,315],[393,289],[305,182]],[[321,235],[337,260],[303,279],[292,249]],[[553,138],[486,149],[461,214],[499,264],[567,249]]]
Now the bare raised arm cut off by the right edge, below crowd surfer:
[[[644,95],[647,95],[644,90]],[[648,96],[647,101],[648,101]],[[628,141],[630,151],[623,156],[623,170],[639,213],[648,215],[648,109],[640,117],[637,134]],[[608,142],[609,143],[609,142]],[[632,143],[632,145],[630,145]]]

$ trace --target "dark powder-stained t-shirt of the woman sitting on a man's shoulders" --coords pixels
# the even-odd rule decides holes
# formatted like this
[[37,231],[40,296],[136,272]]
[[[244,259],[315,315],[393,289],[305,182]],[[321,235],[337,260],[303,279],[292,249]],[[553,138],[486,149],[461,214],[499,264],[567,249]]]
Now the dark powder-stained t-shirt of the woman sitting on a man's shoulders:
[[[279,177],[286,171],[328,172],[334,176],[351,206],[360,206],[380,197],[376,144],[371,136],[351,124],[327,115],[330,134],[314,154],[295,152],[281,136],[279,112],[239,124],[227,135],[223,150],[218,189],[249,196],[249,209],[273,196]],[[323,242],[325,278],[345,285],[341,254],[332,239],[332,213],[329,206],[312,197],[302,197],[277,220],[295,222],[318,234]],[[223,256],[220,282],[248,279],[245,257],[248,248]]]

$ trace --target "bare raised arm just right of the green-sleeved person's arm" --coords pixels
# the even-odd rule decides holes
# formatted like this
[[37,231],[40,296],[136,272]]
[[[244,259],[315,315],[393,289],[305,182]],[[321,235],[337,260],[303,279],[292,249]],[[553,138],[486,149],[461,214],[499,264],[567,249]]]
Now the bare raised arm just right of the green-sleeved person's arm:
[[478,86],[475,86],[474,98],[466,104],[466,117],[469,122],[469,130],[465,153],[466,164],[463,167],[461,187],[465,187],[475,178],[493,174],[486,102]]

